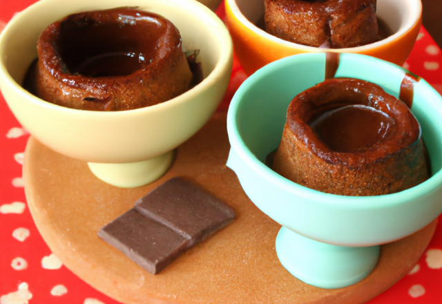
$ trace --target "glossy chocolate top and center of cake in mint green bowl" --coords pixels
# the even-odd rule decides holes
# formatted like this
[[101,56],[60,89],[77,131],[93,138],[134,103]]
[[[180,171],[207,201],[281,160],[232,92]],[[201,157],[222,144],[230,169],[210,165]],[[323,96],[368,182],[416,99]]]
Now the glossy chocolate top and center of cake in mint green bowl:
[[318,157],[348,167],[405,149],[421,137],[407,106],[360,79],[329,79],[297,95],[287,125]]

